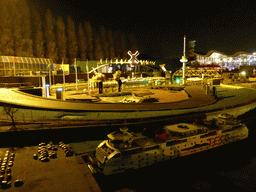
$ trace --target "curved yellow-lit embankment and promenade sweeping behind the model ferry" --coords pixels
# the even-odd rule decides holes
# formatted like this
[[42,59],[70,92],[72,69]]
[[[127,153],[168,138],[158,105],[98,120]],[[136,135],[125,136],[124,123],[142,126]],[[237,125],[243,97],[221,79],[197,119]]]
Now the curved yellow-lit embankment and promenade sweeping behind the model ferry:
[[[3,126],[0,130],[9,128],[9,125],[5,125],[8,118],[4,111],[6,105],[19,108],[15,113],[15,121],[19,123],[21,129],[26,130],[49,127],[109,126],[121,125],[124,122],[127,124],[163,122],[164,120],[178,122],[184,119],[200,118],[200,115],[207,116],[210,120],[222,112],[237,117],[256,107],[255,89],[222,85],[216,86],[216,89],[217,98],[215,99],[207,95],[201,86],[187,86],[184,91],[188,97],[184,100],[175,100],[179,98],[181,91],[146,87],[131,90],[137,95],[154,92],[152,96],[160,98],[159,102],[155,103],[71,102],[33,96],[17,89],[1,89],[0,122]],[[120,100],[118,97],[112,99]]]

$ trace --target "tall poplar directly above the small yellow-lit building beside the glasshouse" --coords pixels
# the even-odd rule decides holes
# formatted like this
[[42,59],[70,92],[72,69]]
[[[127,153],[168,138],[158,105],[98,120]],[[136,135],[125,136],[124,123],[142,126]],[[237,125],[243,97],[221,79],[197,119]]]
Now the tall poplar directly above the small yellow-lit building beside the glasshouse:
[[58,62],[65,61],[67,57],[67,37],[65,24],[61,16],[58,15],[56,22],[56,39],[57,39],[57,50],[58,50]]

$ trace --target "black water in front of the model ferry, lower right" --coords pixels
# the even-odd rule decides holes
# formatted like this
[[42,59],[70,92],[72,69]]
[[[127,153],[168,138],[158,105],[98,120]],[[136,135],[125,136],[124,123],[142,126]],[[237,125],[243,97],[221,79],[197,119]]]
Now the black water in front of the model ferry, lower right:
[[[253,118],[255,110],[242,116]],[[102,191],[256,191],[256,119],[249,138],[201,153],[111,176]]]

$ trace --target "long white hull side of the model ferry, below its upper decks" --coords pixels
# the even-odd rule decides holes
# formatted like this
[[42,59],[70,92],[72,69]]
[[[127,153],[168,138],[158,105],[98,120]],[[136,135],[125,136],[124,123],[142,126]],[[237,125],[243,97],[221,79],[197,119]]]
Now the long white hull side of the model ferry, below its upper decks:
[[[105,140],[98,146],[96,153],[90,156],[88,164],[93,173],[101,172],[104,175],[111,175],[198,153],[247,137],[248,128],[240,124],[228,130],[211,130],[178,140],[158,141],[154,145],[134,148],[121,153],[109,146],[108,140]],[[106,147],[109,147],[108,150],[112,150],[109,156],[106,156],[104,152]]]

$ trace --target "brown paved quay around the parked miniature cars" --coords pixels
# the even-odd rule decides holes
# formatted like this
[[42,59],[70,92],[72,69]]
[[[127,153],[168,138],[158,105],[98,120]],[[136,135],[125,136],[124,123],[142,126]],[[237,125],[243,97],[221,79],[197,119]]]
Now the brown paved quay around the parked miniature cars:
[[[81,156],[66,157],[64,151],[58,148],[56,159],[41,162],[33,159],[33,154],[38,150],[37,146],[33,146],[1,148],[0,157],[4,157],[6,150],[15,153],[15,158],[11,168],[11,187],[4,191],[101,191]],[[15,187],[16,179],[22,180],[24,184]]]

